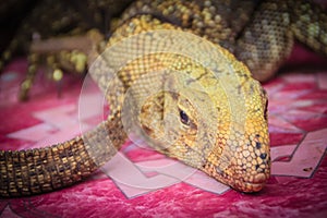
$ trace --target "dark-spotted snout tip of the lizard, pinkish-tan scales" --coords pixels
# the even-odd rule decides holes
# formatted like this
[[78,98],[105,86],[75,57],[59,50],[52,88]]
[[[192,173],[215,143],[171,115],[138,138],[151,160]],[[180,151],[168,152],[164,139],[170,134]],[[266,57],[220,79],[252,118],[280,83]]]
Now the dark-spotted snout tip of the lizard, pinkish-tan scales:
[[[249,141],[225,146],[223,152],[208,158],[204,171],[232,189],[252,193],[261,191],[270,174],[270,153],[267,137],[258,134],[247,136]],[[231,141],[232,142],[232,141]],[[235,144],[237,145],[237,144]],[[211,161],[215,160],[216,161]]]

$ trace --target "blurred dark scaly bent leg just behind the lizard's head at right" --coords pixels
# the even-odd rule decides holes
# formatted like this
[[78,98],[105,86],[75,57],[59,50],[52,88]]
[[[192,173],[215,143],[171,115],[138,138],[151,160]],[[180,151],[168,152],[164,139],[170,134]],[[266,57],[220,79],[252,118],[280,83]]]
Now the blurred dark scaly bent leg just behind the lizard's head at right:
[[234,55],[256,80],[267,81],[293,47],[288,5],[276,0],[264,1],[250,23],[237,39]]

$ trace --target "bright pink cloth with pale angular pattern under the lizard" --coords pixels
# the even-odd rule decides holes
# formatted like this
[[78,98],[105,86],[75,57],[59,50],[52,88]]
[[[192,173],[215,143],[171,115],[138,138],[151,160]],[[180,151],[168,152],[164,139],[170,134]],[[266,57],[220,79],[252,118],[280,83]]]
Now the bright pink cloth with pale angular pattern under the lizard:
[[[322,65],[326,59],[298,47],[289,64],[303,61]],[[106,117],[99,90],[74,75],[65,76],[58,88],[40,74],[31,100],[17,102],[24,69],[26,61],[17,59],[1,75],[1,149],[62,142]],[[262,192],[238,193],[129,142],[85,182],[44,195],[0,199],[0,218],[327,217],[327,71],[288,70],[264,86],[269,97],[272,175]]]

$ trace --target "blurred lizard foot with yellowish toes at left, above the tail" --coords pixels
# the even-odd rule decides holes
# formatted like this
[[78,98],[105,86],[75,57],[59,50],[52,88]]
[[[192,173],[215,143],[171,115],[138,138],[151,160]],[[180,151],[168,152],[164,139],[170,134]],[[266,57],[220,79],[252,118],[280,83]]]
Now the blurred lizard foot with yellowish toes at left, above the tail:
[[20,100],[27,100],[41,58],[46,59],[46,65],[51,69],[49,77],[60,82],[63,71],[83,74],[87,66],[87,55],[95,57],[102,39],[104,36],[98,31],[92,29],[81,36],[32,41],[29,49],[32,55],[28,57],[26,77],[21,85]]

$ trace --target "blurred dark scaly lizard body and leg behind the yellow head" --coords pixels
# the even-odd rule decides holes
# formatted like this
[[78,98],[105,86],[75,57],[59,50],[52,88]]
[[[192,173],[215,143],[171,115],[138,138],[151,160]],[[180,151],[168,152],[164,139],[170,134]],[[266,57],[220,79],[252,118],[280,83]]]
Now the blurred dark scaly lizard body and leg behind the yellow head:
[[141,0],[122,15],[165,17],[232,52],[253,77],[267,81],[289,57],[294,39],[327,56],[327,14],[306,0]]

